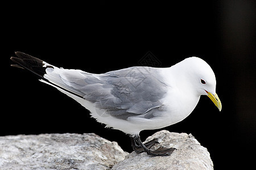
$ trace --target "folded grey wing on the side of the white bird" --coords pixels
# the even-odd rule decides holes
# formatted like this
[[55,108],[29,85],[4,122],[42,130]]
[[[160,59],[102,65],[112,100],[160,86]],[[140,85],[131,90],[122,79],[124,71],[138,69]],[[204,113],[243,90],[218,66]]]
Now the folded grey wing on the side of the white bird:
[[88,74],[84,79],[66,78],[65,83],[82,94],[84,99],[111,116],[126,119],[130,116],[154,117],[154,110],[162,106],[166,84],[151,67],[130,67],[105,74]]

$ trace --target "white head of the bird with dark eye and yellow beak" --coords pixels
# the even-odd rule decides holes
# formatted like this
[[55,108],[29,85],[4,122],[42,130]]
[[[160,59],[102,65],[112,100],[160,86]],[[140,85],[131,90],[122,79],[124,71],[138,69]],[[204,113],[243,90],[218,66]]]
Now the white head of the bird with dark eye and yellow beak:
[[221,101],[216,94],[216,78],[208,63],[198,57],[189,57],[178,65],[183,70],[183,78],[191,83],[196,95],[207,95],[221,111]]

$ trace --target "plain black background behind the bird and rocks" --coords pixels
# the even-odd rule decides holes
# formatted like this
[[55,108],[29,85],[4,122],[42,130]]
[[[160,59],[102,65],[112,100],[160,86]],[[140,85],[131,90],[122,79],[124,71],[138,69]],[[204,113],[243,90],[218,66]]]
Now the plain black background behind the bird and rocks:
[[[164,129],[192,133],[215,169],[255,161],[254,1],[20,2],[1,8],[0,135],[96,133],[132,151],[127,135],[105,129],[75,100],[10,67],[15,51],[89,73],[138,66],[147,52],[161,67],[197,56],[216,75],[222,111],[201,96],[190,116]],[[142,140],[156,131],[142,131]]]

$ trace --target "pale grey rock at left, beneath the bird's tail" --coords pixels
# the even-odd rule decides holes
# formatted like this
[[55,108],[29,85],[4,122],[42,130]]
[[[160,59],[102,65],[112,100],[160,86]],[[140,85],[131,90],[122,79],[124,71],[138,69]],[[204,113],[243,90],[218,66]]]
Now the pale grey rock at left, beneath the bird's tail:
[[0,169],[111,169],[127,154],[96,134],[0,137]]

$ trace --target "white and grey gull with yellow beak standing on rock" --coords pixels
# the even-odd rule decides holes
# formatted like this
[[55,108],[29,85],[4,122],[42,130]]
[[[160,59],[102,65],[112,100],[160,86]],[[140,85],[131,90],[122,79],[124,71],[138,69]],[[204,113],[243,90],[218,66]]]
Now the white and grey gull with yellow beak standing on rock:
[[15,52],[11,65],[31,71],[39,80],[75,99],[107,128],[130,136],[137,154],[171,155],[176,148],[150,148],[158,142],[143,143],[142,130],[164,128],[184,120],[207,95],[221,111],[216,94],[216,77],[203,59],[185,58],[171,67],[134,66],[93,74],[53,66],[26,53]]

